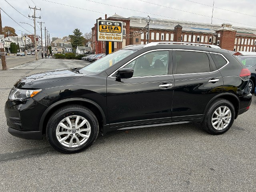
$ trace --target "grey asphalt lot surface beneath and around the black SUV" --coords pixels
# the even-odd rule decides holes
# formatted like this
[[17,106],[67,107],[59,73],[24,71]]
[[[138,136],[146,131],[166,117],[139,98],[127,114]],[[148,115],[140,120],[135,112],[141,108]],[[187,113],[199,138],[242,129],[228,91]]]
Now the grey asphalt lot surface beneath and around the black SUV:
[[0,71],[1,191],[255,191],[256,96],[218,136],[197,123],[120,130],[99,135],[83,152],[61,154],[45,136],[25,140],[8,133],[4,104],[18,79],[86,64],[42,59]]

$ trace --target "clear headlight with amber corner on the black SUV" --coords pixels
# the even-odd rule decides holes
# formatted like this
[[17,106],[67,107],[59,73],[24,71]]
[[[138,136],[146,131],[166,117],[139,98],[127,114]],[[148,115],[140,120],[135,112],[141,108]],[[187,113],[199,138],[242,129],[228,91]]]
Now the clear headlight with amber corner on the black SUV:
[[26,90],[26,89],[12,89],[9,94],[10,100],[24,100],[27,98],[32,98],[38,94],[42,89],[37,90]]

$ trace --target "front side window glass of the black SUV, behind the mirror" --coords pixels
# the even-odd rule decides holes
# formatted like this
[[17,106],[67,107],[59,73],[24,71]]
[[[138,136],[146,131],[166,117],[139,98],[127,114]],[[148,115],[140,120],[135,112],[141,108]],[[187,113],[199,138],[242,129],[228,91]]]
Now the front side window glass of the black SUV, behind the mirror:
[[168,74],[168,51],[154,51],[133,60],[125,67],[134,69],[132,77],[160,76]]

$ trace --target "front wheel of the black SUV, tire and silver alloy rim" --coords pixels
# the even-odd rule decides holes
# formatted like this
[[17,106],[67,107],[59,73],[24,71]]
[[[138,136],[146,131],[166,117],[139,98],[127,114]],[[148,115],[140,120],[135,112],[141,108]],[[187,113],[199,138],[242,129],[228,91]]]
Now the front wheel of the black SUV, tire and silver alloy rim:
[[91,146],[98,132],[96,116],[80,105],[68,105],[56,110],[46,127],[49,143],[62,153],[77,153]]

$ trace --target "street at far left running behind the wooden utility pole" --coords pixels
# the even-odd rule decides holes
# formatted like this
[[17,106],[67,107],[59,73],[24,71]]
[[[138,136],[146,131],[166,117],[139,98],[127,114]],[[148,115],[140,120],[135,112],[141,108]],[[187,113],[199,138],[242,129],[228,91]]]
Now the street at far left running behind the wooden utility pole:
[[[44,48],[44,50],[45,50],[45,48]],[[37,52],[38,59],[42,58],[41,52],[42,52],[42,49],[40,49],[40,52]],[[7,65],[7,68],[13,68],[13,67],[16,67],[21,64],[25,64],[25,63],[28,63],[28,62],[31,62],[34,60],[36,60],[36,56],[34,56],[34,55],[26,55],[26,56],[16,56],[16,55],[9,56],[9,55],[7,55],[6,56],[6,65]],[[0,70],[2,70],[2,64],[1,64]]]

